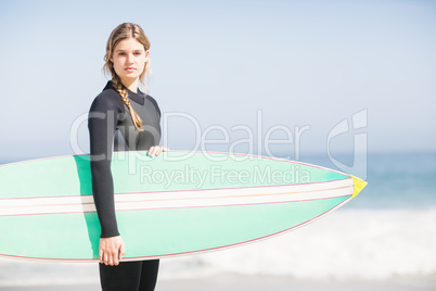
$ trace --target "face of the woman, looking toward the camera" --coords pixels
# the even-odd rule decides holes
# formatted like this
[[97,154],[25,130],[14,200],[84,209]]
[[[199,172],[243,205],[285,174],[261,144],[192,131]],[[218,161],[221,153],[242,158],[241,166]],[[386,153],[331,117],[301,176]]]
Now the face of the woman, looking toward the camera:
[[138,80],[149,60],[149,51],[134,38],[121,40],[114,49],[111,61],[115,73],[121,80],[131,83]]

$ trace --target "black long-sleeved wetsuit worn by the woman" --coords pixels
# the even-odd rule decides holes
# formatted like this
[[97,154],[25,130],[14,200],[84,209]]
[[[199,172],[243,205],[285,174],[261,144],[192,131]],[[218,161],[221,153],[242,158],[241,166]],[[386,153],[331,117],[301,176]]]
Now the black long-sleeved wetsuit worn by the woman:
[[[112,81],[94,99],[88,116],[92,191],[102,238],[119,235],[111,173],[113,151],[149,150],[161,141],[161,110],[156,101],[141,91],[127,91],[131,106],[142,119],[143,131],[134,128],[129,109],[113,89]],[[123,262],[118,266],[100,264],[102,288],[104,291],[154,290],[158,264],[158,260]]]

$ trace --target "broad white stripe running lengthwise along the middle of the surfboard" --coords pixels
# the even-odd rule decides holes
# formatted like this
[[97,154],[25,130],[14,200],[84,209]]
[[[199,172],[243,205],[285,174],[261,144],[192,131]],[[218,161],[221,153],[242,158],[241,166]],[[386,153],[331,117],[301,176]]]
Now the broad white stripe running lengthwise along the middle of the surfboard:
[[[319,184],[230,190],[119,193],[115,194],[115,208],[136,211],[297,202],[350,195],[352,191],[352,179],[343,179]],[[95,212],[92,195],[0,200],[0,216],[84,212]]]

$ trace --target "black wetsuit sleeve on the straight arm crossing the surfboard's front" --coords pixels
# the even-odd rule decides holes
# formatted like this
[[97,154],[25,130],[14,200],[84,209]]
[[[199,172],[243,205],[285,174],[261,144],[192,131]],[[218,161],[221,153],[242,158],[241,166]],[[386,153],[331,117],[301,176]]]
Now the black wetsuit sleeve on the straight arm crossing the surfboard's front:
[[92,193],[101,225],[101,238],[119,236],[111,172],[114,134],[119,111],[110,98],[97,97],[88,115]]

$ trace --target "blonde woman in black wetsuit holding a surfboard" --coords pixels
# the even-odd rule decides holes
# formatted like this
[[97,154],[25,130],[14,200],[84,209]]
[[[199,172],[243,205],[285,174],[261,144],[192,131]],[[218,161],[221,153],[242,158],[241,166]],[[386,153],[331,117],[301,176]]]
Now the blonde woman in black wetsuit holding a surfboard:
[[[101,225],[100,280],[103,291],[154,290],[158,260],[119,262],[125,244],[118,232],[111,173],[112,153],[118,150],[149,150],[158,155],[161,111],[156,101],[138,89],[150,73],[150,42],[132,23],[116,27],[106,46],[104,69],[112,75],[92,102],[88,128],[91,150],[92,191]],[[129,248],[129,245],[126,245]]]

